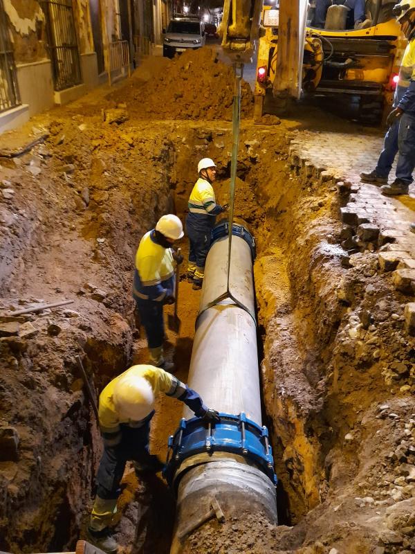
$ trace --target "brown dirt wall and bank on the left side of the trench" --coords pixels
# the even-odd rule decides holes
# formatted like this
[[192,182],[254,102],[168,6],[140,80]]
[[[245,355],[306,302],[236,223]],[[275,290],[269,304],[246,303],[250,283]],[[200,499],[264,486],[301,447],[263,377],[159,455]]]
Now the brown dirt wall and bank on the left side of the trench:
[[[163,136],[131,129],[131,146],[100,116],[46,129],[45,143],[1,168],[13,192],[0,206],[0,549],[10,552],[65,550],[79,537],[101,439],[75,356],[95,391],[128,367],[133,258],[172,211]],[[64,299],[74,302],[5,315]]]

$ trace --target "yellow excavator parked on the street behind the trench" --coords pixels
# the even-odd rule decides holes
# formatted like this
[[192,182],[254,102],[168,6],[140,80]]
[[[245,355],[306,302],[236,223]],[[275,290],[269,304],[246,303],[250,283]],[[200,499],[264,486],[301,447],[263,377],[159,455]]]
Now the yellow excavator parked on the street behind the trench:
[[283,105],[299,96],[349,95],[360,100],[360,120],[380,120],[391,106],[406,45],[392,15],[396,1],[367,0],[371,24],[358,30],[347,28],[353,27],[347,17],[336,17],[340,6],[329,7],[325,28],[315,28],[313,2],[265,3],[225,0],[221,27],[231,56],[248,60],[259,39],[255,116],[261,116],[267,93]]

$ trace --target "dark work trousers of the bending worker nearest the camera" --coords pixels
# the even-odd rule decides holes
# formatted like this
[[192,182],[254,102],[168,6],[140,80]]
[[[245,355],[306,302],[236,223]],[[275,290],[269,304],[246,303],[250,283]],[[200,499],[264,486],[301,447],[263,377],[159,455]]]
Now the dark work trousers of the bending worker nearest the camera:
[[142,427],[129,427],[121,424],[121,442],[108,447],[104,452],[97,473],[97,496],[104,500],[117,499],[120,496],[120,482],[127,461],[145,462],[149,456],[150,420]]

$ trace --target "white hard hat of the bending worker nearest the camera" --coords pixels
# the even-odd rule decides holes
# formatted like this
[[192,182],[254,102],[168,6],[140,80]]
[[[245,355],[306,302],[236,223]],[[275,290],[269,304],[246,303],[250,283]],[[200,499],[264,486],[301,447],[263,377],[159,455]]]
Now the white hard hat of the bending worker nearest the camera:
[[147,379],[127,373],[114,386],[113,403],[120,418],[140,421],[154,410],[154,392]]

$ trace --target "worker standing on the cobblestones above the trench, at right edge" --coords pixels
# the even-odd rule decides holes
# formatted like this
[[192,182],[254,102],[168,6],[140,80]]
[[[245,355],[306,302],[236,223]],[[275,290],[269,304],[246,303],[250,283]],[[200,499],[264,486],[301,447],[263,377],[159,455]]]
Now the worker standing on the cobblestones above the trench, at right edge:
[[[411,115],[414,114],[415,107],[413,93],[415,79],[415,0],[403,0],[396,4],[394,13],[405,38],[408,39],[408,44],[400,64],[399,80],[394,96],[394,109],[387,118],[389,129],[385,135],[383,150],[380,152],[376,168],[368,173],[360,173],[362,181],[378,186],[384,185],[381,188],[384,195],[408,193],[409,184],[412,183],[415,162],[414,115]],[[403,117],[404,112],[405,117]],[[387,179],[398,152],[396,179],[391,185],[388,185]]]

